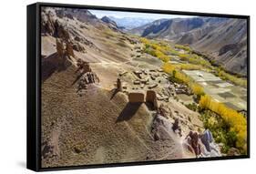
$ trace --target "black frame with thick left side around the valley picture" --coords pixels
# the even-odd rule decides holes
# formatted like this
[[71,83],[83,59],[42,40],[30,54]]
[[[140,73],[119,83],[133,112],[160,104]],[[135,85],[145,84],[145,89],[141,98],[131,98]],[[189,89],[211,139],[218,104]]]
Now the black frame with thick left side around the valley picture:
[[[56,167],[42,168],[41,167],[41,37],[40,37],[40,9],[42,6],[50,7],[68,7],[68,8],[87,8],[95,10],[112,10],[112,11],[128,11],[142,13],[156,13],[169,15],[199,15],[199,16],[215,16],[215,17],[231,17],[247,20],[247,155],[233,157],[218,157],[218,158],[203,158],[203,159],[171,159],[158,161],[142,161],[142,162],[126,162],[114,164],[96,164],[85,166],[72,167]],[[156,9],[140,9],[140,8],[125,8],[112,6],[95,6],[95,5],[67,5],[67,4],[51,4],[51,3],[36,3],[27,5],[27,121],[26,121],[26,168],[35,171],[48,171],[60,169],[91,169],[91,168],[106,168],[106,167],[122,167],[134,165],[151,165],[162,163],[177,163],[177,162],[195,162],[223,159],[248,159],[250,158],[250,16],[249,15],[227,15],[227,14],[210,14],[197,12],[179,12],[169,10]]]

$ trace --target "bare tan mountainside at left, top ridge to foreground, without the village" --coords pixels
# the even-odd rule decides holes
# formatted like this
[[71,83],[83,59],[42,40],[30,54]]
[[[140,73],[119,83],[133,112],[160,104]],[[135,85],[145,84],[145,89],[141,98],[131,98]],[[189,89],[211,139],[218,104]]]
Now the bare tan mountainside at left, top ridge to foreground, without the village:
[[[87,10],[44,8],[41,15],[43,168],[195,158],[183,152],[172,119],[154,121],[145,103],[115,90],[119,74],[138,67],[136,38]],[[173,115],[191,118],[184,134],[202,126],[198,113],[170,102]]]

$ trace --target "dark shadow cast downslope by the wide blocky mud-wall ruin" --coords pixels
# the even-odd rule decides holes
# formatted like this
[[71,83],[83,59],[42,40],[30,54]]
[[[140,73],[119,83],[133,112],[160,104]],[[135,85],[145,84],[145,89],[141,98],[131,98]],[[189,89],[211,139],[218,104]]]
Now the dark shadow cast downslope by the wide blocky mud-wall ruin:
[[136,112],[138,111],[138,108],[142,105],[142,103],[130,103],[124,107],[124,109],[121,111],[121,113],[118,116],[118,119],[116,120],[116,123],[121,121],[128,121],[130,118],[132,118]]

